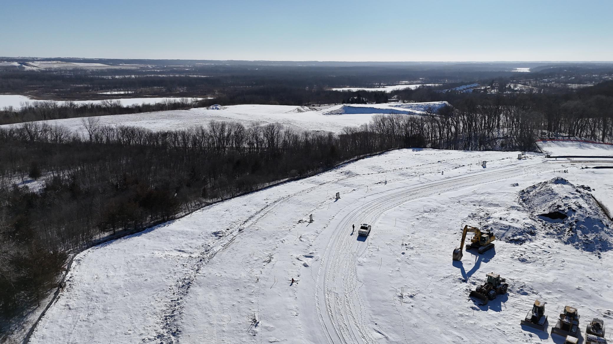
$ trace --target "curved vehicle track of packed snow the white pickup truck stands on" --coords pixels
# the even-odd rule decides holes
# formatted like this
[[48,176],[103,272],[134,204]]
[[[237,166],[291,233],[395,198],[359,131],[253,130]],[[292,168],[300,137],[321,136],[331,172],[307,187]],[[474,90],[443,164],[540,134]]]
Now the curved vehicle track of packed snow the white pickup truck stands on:
[[[443,192],[462,189],[464,187],[489,184],[501,179],[511,178],[517,174],[532,174],[544,168],[543,164],[535,163],[529,166],[516,166],[488,173],[478,173],[443,181],[429,182],[406,190],[388,193],[374,200],[367,201],[349,212],[341,219],[338,230],[333,231],[332,238],[322,255],[316,279],[314,300],[322,331],[329,343],[376,343],[364,327],[364,311],[359,292],[356,288],[356,260],[364,254],[367,242],[355,250],[357,240],[347,235],[344,228],[349,223],[369,223],[376,220],[389,209],[416,198],[432,196]],[[364,221],[366,222],[366,221]],[[353,239],[353,240],[352,240]],[[350,241],[354,241],[351,243]],[[348,260],[348,255],[352,260]],[[348,274],[351,274],[348,276]],[[339,275],[341,278],[339,279]],[[323,312],[322,310],[326,310]],[[357,312],[359,310],[359,312]],[[359,316],[359,319],[356,316]]]

